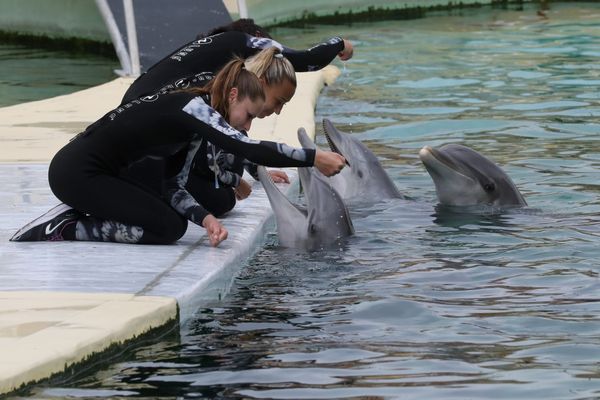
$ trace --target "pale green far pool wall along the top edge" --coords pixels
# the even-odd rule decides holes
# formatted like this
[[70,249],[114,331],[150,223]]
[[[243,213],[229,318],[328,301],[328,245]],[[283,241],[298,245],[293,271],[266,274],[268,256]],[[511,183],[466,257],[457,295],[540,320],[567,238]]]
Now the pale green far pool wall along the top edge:
[[[516,3],[523,3],[517,1]],[[527,2],[527,1],[525,1]],[[240,16],[238,2],[224,2],[233,18]],[[459,8],[475,5],[507,4],[498,0],[246,0],[248,16],[259,24],[273,26],[315,17],[390,13],[407,18],[422,16],[427,10]],[[362,13],[362,14],[361,14]],[[340,17],[341,19],[341,17]],[[110,44],[111,39],[94,0],[2,0],[0,3],[0,37],[40,37],[54,40],[83,40]]]

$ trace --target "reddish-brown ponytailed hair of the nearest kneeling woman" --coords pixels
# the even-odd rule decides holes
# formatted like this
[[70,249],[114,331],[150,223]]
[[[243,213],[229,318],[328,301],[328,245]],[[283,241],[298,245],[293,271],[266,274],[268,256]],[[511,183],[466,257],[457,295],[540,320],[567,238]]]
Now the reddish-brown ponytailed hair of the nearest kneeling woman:
[[265,92],[256,74],[244,67],[244,60],[236,57],[229,61],[208,84],[203,87],[186,89],[186,92],[210,94],[211,106],[219,114],[229,119],[229,93],[237,88],[238,100],[265,100]]

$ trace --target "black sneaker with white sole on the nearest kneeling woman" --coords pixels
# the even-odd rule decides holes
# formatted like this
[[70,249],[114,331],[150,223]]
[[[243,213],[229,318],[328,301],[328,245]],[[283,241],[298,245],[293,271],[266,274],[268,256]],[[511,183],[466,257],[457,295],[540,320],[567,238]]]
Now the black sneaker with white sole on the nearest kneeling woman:
[[62,232],[67,225],[77,222],[82,214],[66,204],[59,204],[19,229],[11,242],[36,242],[65,240]]

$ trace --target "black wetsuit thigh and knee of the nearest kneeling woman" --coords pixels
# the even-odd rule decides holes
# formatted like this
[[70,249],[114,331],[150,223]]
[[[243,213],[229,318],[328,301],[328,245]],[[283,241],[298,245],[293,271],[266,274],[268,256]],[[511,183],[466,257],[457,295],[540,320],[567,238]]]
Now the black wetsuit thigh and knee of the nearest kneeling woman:
[[[70,207],[93,216],[83,217],[78,223],[88,231],[105,229],[115,223],[119,229],[141,228],[143,234],[136,243],[168,244],[184,235],[187,220],[157,193],[97,165],[78,142],[74,140],[63,147],[52,159],[48,170],[54,195]],[[118,232],[116,236],[119,236]]]

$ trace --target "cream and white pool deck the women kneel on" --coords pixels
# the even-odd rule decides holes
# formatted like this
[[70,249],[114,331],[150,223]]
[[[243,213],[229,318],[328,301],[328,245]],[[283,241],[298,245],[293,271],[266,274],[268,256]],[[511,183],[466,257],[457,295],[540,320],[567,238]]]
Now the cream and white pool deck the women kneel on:
[[[292,145],[298,127],[314,136],[318,95],[338,75],[333,66],[298,74],[292,101],[279,116],[256,120],[250,136]],[[184,323],[206,301],[227,293],[272,223],[269,201],[254,182],[251,196],[222,219],[229,237],[218,248],[197,226],[169,246],[9,242],[58,203],[46,175],[54,153],[114,108],[130,83],[119,78],[0,108],[0,394],[154,328]],[[287,172],[295,181],[295,171]]]

